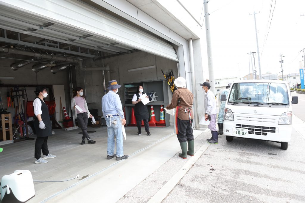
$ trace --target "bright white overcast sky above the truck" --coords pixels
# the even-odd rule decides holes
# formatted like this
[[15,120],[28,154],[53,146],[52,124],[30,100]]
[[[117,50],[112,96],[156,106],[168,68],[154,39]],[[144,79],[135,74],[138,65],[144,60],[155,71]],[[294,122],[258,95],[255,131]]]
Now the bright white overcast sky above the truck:
[[[253,12],[261,73],[282,75],[280,54],[284,75],[296,73],[300,61],[304,66],[305,0],[210,0],[208,6],[215,79],[243,77],[249,67],[252,72],[248,53],[257,52]],[[257,53],[255,66],[258,74]]]

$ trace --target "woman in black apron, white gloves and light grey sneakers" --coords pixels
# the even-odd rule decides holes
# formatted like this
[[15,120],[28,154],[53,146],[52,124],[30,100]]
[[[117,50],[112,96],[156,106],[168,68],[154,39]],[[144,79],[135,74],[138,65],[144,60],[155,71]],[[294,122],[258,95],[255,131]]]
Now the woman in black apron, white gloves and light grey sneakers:
[[[47,163],[45,159],[55,158],[55,155],[49,153],[48,150],[48,136],[52,135],[51,121],[48,111],[48,106],[44,102],[44,98],[48,96],[47,89],[44,86],[38,86],[35,91],[36,98],[33,102],[34,108],[34,127],[36,129],[35,142],[35,163]],[[43,158],[41,157],[44,155]]]

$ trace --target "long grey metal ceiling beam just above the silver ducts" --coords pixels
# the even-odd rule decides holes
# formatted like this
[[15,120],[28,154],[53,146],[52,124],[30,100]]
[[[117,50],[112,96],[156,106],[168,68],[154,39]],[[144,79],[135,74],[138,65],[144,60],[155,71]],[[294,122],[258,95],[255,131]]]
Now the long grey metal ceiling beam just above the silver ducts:
[[92,54],[85,54],[77,51],[69,51],[65,49],[59,49],[59,48],[54,48],[54,47],[48,47],[48,46],[43,46],[39,44],[33,44],[29,42],[23,42],[19,40],[12,40],[4,37],[0,37],[1,42],[9,43],[9,44],[20,44],[20,45],[26,45],[27,47],[33,47],[33,48],[38,48],[38,49],[45,49],[45,50],[50,50],[50,51],[58,51],[58,52],[63,52],[63,53],[69,53],[69,54],[74,54],[78,56],[84,56],[84,57],[89,57],[89,58],[96,58],[96,55]]

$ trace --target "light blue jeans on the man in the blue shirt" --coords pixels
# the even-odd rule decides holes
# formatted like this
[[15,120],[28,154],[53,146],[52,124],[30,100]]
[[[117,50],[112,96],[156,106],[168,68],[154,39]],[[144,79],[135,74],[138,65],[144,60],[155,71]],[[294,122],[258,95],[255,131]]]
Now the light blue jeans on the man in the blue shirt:
[[[111,123],[110,123],[111,119]],[[123,132],[122,132],[122,122],[120,117],[114,116],[105,118],[106,125],[107,125],[107,132],[108,132],[108,139],[107,139],[107,154],[109,156],[112,156],[114,154],[114,135],[117,139],[117,156],[123,156],[124,155],[124,149],[123,149]],[[115,122],[115,123],[113,123]]]

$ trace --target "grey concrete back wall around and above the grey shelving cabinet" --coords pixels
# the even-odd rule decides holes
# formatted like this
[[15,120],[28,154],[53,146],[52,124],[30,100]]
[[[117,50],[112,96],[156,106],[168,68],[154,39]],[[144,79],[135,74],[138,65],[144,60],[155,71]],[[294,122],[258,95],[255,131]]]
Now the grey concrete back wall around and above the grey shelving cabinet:
[[[175,78],[178,77],[177,63],[168,59],[155,56],[143,51],[125,54],[117,57],[104,59],[104,65],[110,66],[110,79],[106,78],[106,87],[109,80],[117,80],[119,85],[129,82],[141,82],[157,79],[165,79],[160,68],[166,73],[173,69]],[[128,72],[128,69],[141,68],[155,65],[155,68]],[[102,60],[84,61],[84,66],[102,67]],[[85,91],[88,107],[98,109],[98,114],[102,115],[101,100],[103,94],[102,71],[81,71],[76,69],[77,86],[81,86]],[[85,82],[84,82],[85,81]],[[145,91],[145,90],[144,90]],[[168,88],[169,98],[171,99],[170,89]],[[124,106],[124,88],[120,88],[122,106]]]

